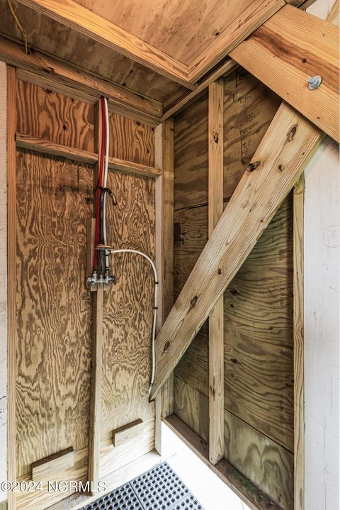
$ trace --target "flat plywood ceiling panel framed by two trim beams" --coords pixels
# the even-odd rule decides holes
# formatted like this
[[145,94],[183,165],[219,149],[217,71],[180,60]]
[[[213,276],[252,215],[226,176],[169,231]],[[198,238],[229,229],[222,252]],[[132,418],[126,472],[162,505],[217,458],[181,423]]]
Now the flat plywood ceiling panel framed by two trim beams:
[[76,1],[186,65],[249,5],[249,0]]

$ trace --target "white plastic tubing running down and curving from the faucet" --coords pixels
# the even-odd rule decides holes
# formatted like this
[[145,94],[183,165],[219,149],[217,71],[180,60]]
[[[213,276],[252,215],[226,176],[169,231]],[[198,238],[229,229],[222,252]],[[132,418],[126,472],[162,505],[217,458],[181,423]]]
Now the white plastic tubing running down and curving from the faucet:
[[[110,123],[108,121],[108,99],[104,98],[105,103],[105,118],[106,118],[106,150],[105,150],[105,167],[104,167],[104,180],[103,180],[103,187],[106,188],[107,182],[108,182],[108,149],[109,149],[109,140],[110,140]],[[106,239],[106,194],[104,196],[104,211],[103,211],[103,218],[104,218],[104,225],[103,225],[103,233],[104,233],[104,243],[107,245],[107,239]],[[108,262],[108,255],[109,253],[135,253],[137,255],[140,255],[141,257],[144,257],[146,260],[149,261],[151,264],[152,270],[154,272],[154,317],[152,321],[152,345],[151,345],[151,351],[152,351],[152,362],[151,362],[151,377],[150,377],[150,384],[149,384],[149,396],[152,390],[152,386],[154,385],[154,372],[155,372],[155,340],[156,340],[156,324],[157,324],[157,299],[158,299],[158,277],[157,277],[157,270],[156,266],[154,265],[154,262],[152,262],[151,258],[148,257],[145,253],[142,253],[138,250],[128,250],[128,249],[122,249],[122,250],[110,250],[110,252],[106,252],[106,261]],[[108,265],[108,264],[107,264]]]

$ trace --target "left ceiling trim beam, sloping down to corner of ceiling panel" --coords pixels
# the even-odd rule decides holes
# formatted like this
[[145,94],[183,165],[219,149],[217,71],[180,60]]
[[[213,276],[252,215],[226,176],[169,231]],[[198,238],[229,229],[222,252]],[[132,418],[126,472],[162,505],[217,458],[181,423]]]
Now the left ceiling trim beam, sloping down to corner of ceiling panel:
[[19,0],[39,13],[63,23],[96,40],[135,62],[149,67],[185,87],[188,84],[187,66],[123,30],[106,18],[77,4],[74,0]]

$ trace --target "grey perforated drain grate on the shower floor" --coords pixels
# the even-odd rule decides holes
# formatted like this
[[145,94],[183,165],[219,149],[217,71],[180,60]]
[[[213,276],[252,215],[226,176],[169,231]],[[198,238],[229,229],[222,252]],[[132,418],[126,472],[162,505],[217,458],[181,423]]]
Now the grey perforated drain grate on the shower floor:
[[188,487],[162,462],[82,510],[204,510]]

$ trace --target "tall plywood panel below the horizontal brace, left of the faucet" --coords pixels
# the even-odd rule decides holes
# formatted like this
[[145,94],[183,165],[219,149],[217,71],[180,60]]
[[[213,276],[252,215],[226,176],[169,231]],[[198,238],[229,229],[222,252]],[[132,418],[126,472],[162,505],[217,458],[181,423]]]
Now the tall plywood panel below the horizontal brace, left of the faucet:
[[89,433],[92,168],[18,150],[18,476]]

